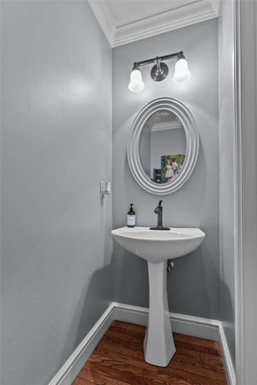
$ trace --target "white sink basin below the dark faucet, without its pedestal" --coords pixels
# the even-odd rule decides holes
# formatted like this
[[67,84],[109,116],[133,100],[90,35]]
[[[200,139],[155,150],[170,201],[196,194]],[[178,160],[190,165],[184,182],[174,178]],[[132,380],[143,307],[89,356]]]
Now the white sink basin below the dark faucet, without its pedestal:
[[111,232],[127,251],[158,263],[191,253],[202,243],[205,234],[197,228],[171,228],[170,231],[149,227],[121,227]]

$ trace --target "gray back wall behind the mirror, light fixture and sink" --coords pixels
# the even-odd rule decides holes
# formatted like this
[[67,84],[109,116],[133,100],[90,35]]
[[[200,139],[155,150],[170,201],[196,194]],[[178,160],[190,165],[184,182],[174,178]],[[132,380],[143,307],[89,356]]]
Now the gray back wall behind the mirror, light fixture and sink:
[[[164,81],[153,82],[151,66],[145,66],[145,89],[140,93],[129,91],[134,61],[180,50],[185,52],[192,73],[189,82],[173,83],[175,60],[171,60]],[[175,261],[175,269],[168,275],[169,310],[212,319],[220,316],[217,54],[216,19],[112,50],[113,228],[125,225],[130,202],[135,204],[137,225],[157,223],[154,208],[160,197],[147,193],[133,178],[126,157],[127,137],[136,115],[151,100],[180,100],[198,125],[200,151],[191,178],[176,193],[162,197],[164,226],[199,227],[206,238],[195,252]],[[114,300],[148,306],[147,263],[113,242],[113,266]]]

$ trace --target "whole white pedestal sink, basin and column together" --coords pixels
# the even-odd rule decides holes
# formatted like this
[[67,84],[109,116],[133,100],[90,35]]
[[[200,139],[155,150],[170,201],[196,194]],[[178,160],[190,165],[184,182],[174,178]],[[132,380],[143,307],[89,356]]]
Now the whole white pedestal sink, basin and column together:
[[112,230],[111,234],[124,249],[148,262],[149,320],[144,340],[145,360],[167,366],[176,351],[167,299],[167,260],[194,251],[205,234],[197,228],[162,231],[149,230],[149,227],[122,227]]

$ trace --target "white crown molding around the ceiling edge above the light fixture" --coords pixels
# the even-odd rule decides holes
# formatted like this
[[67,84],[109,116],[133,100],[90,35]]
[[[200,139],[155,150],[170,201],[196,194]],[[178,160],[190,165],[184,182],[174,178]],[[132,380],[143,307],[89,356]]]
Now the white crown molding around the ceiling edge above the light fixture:
[[218,16],[220,0],[198,0],[176,9],[115,27],[104,1],[88,3],[111,47],[131,43]]

